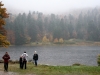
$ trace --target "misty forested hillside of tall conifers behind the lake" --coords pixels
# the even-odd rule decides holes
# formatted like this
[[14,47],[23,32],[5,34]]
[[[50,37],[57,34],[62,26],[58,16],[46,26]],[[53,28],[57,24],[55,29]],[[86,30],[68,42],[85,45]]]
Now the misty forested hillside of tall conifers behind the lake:
[[45,15],[41,12],[10,14],[5,28],[8,40],[15,45],[40,42],[43,38],[49,42],[60,38],[100,41],[100,8],[67,15]]

